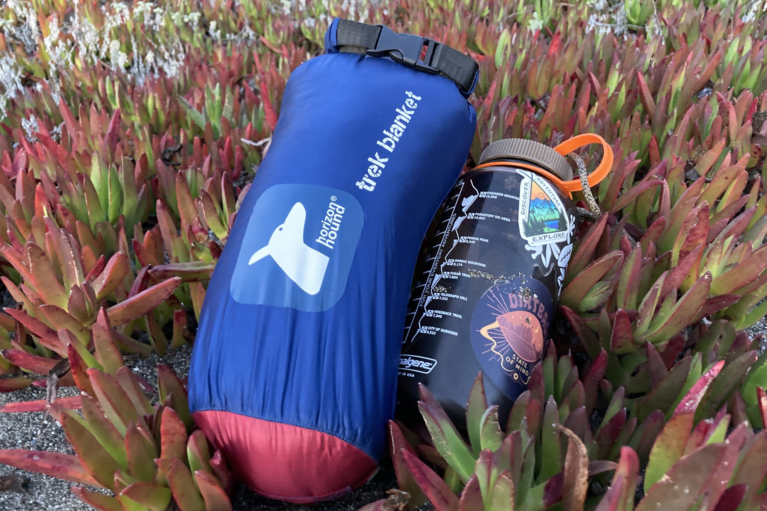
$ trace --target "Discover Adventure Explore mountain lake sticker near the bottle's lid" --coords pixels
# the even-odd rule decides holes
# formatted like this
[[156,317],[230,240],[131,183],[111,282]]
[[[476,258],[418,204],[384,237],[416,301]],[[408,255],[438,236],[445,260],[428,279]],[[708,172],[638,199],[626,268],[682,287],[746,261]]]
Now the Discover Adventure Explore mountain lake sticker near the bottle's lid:
[[557,243],[567,238],[570,227],[565,205],[545,178],[517,170],[519,185],[519,233],[528,244]]

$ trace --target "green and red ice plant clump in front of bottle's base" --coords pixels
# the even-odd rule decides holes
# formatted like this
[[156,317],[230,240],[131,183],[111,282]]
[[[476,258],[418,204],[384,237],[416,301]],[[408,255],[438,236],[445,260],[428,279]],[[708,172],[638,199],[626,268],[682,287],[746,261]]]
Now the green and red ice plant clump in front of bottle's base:
[[[390,423],[391,455],[400,490],[410,493],[409,506],[425,499],[436,509],[544,509],[582,502],[588,478],[614,468],[609,461],[590,464],[581,437],[559,424],[565,413],[565,424],[588,428],[582,405],[575,405],[578,408],[568,414],[567,406],[558,408],[553,396],[542,406],[526,392],[515,404],[504,432],[498,407],[487,407],[479,375],[466,413],[469,445],[423,386],[421,397],[419,406],[431,444],[413,448],[400,426]],[[444,470],[444,480],[416,453]]]

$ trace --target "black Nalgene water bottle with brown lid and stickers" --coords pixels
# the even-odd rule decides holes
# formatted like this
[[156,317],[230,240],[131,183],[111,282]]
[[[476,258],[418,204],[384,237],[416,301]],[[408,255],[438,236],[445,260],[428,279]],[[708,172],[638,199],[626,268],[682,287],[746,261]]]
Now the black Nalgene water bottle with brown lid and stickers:
[[405,424],[420,423],[423,383],[463,429],[480,371],[505,423],[542,359],[570,260],[575,208],[555,182],[572,177],[554,149],[504,139],[459,178],[411,296],[399,366]]

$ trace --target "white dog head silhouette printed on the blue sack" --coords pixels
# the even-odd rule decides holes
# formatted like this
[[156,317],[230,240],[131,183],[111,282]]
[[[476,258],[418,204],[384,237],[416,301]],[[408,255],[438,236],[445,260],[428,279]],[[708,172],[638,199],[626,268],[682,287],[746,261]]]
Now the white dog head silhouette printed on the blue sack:
[[272,256],[282,271],[306,293],[320,292],[330,257],[304,244],[306,209],[296,202],[285,221],[269,237],[269,243],[255,251],[248,264]]

